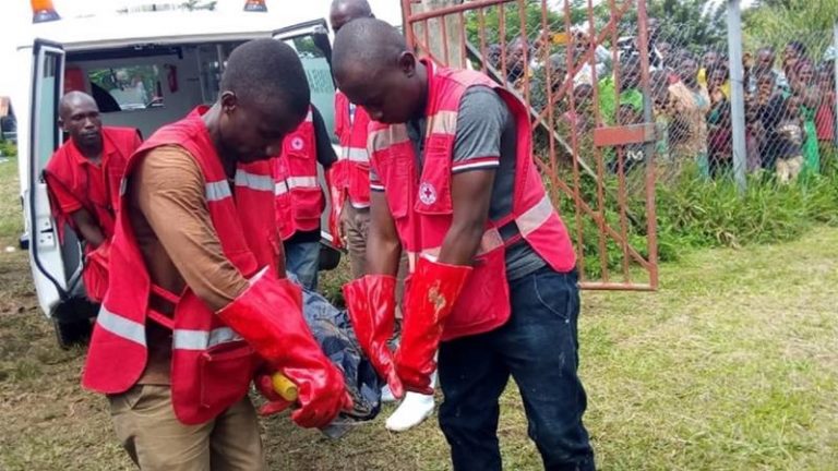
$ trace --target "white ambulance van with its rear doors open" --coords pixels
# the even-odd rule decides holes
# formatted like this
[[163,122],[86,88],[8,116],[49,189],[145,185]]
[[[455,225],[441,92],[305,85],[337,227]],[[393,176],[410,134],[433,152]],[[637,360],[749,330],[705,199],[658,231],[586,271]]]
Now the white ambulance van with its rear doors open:
[[[247,3],[264,5],[253,0]],[[31,39],[16,55],[15,70],[27,77],[12,96],[26,228],[22,240],[28,241],[40,309],[53,322],[61,346],[88,334],[89,318],[98,307],[84,295],[83,261],[73,231],[65,230],[63,241],[59,241],[41,178],[44,167],[64,140],[58,126],[63,93],[77,89],[92,95],[105,125],[136,128],[148,137],[195,106],[215,101],[225,62],[236,46],[250,39],[275,38],[298,51],[312,101],[331,131],[335,88],[328,4],[326,0],[283,0],[271,5],[284,9],[280,15],[168,10],[98,14],[32,26]],[[328,239],[324,233],[324,243]],[[336,264],[336,253],[325,252]]]

